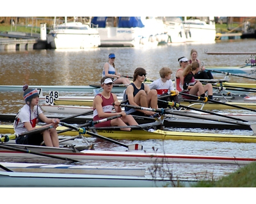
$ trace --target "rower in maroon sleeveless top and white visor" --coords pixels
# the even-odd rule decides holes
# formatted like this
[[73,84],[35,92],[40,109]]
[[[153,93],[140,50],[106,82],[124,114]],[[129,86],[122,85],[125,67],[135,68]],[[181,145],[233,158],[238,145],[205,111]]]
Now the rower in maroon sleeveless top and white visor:
[[[116,94],[111,93],[113,88],[113,80],[110,77],[103,77],[100,80],[101,87],[103,89],[102,92],[97,94],[93,99],[93,120],[105,119],[107,117],[122,115],[121,118],[108,120],[106,122],[100,122],[99,124],[95,124],[96,127],[109,127],[109,126],[127,126],[129,124],[138,125],[136,120],[132,117],[132,115],[126,115],[125,112],[122,111],[120,102],[117,99]],[[115,112],[113,110],[113,103],[115,104]],[[126,124],[127,123],[127,124]],[[130,131],[131,128],[120,128],[125,131]]]

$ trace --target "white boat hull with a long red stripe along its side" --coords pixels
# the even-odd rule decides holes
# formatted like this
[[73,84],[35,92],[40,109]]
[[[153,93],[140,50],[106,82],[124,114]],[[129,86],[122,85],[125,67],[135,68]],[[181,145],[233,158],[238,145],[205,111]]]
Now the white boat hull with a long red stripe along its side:
[[[16,147],[17,145],[15,145]],[[138,161],[138,162],[179,162],[179,163],[225,163],[225,164],[248,164],[256,161],[256,158],[246,157],[221,157],[221,156],[200,156],[200,155],[186,155],[186,154],[169,154],[161,152],[144,152],[144,151],[105,151],[105,150],[82,150],[81,152],[72,152],[61,150],[60,148],[51,150],[42,146],[26,145],[26,149],[33,150],[33,152],[43,152],[50,156],[67,157],[69,159],[77,160],[102,160],[102,161]],[[1,157],[42,157],[36,154],[28,154],[25,152],[18,152],[0,148]],[[45,158],[45,157],[44,157]],[[51,159],[49,157],[49,159]],[[50,171],[50,170],[49,170]],[[57,170],[62,171],[62,170]],[[85,171],[85,170],[84,170]],[[63,172],[67,172],[63,170]],[[100,171],[99,171],[100,172]],[[138,172],[137,172],[138,173]],[[116,173],[117,174],[117,173]]]

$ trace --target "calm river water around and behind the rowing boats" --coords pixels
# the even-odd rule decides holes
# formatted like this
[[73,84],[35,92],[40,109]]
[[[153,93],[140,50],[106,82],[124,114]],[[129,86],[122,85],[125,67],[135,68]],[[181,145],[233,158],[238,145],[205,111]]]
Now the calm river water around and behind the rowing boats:
[[[159,47],[144,48],[93,48],[88,50],[26,50],[15,52],[0,52],[0,76],[1,85],[89,85],[99,84],[102,68],[108,61],[108,54],[115,53],[116,68],[122,75],[132,76],[134,69],[143,67],[147,70],[148,79],[159,78],[159,69],[164,66],[173,71],[179,68],[177,59],[181,56],[189,58],[190,50],[198,51],[198,59],[205,66],[243,66],[245,59],[250,55],[207,55],[208,52],[255,52],[255,40],[227,40],[217,41],[212,44],[184,43],[177,45],[164,45]],[[173,78],[172,76],[172,78]],[[224,78],[218,74],[215,78]],[[251,75],[250,77],[256,77]],[[231,82],[255,83],[255,80],[241,77],[230,77]],[[256,84],[255,84],[256,85]],[[255,86],[256,87],[256,86]],[[77,93],[74,93],[77,94]],[[81,94],[81,93],[80,93]],[[22,90],[20,92],[0,92],[0,113],[15,113],[24,105]],[[186,130],[189,131],[189,130]],[[200,130],[198,130],[200,131]],[[202,130],[201,130],[202,131]],[[211,132],[211,131],[209,131]],[[230,131],[227,131],[230,133]],[[252,135],[251,131],[236,131],[236,134]],[[90,139],[95,141],[94,138]],[[228,142],[197,142],[182,140],[145,140],[128,141],[123,143],[141,143],[143,148],[152,152],[152,147],[159,148],[160,152],[172,154],[200,154],[212,156],[236,156],[256,157],[255,143],[228,143]],[[125,150],[108,142],[98,141],[97,149]],[[0,159],[0,161],[3,159]],[[4,159],[4,161],[15,161],[15,159]],[[26,160],[25,160],[26,161]],[[31,160],[29,160],[31,162]],[[44,163],[35,159],[35,162]],[[46,162],[46,160],[45,160]],[[49,161],[47,161],[49,162]],[[61,161],[53,161],[58,163]],[[148,168],[152,164],[145,163],[116,163],[86,161],[88,165],[96,166],[143,166]],[[227,164],[170,164],[170,170],[180,177],[221,177],[239,168],[238,165]]]

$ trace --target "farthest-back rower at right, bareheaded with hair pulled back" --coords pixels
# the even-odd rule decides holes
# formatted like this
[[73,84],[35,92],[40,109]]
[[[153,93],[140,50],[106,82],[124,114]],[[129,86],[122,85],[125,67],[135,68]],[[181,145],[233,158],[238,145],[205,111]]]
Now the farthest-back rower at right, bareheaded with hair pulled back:
[[[201,64],[199,59],[197,58],[197,51],[195,49],[192,49],[190,52],[190,57],[191,59],[189,59],[189,64],[192,64],[192,62],[198,62],[199,64]],[[198,79],[212,79],[212,73],[211,71],[205,71],[205,67],[201,64],[200,66],[200,70],[198,71],[198,73],[195,74],[195,78]]]

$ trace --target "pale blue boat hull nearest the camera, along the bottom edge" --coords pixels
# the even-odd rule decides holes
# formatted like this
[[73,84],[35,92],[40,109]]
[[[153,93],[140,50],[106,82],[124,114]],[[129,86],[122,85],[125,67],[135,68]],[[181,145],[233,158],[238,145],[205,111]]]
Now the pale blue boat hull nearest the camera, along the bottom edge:
[[[172,187],[170,180],[115,175],[0,172],[0,187]],[[173,180],[184,187],[195,180]]]

